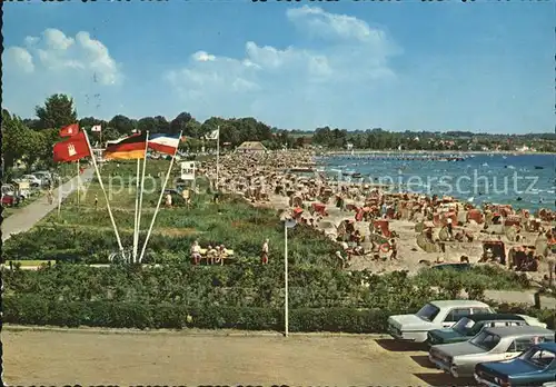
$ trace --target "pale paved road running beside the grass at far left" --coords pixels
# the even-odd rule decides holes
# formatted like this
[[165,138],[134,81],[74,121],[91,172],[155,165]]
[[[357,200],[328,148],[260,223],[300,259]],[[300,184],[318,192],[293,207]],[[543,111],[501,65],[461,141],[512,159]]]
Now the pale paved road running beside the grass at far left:
[[[81,182],[89,181],[92,178],[95,170],[87,169],[81,175]],[[58,197],[61,192],[62,199],[66,199],[77,188],[77,177],[67,181],[62,186],[54,189],[54,200],[51,205],[48,204],[47,198],[40,198],[29,206],[22,207],[17,212],[12,214],[2,222],[2,241],[6,241],[12,234],[28,231],[39,220],[44,218],[47,214],[58,207]]]

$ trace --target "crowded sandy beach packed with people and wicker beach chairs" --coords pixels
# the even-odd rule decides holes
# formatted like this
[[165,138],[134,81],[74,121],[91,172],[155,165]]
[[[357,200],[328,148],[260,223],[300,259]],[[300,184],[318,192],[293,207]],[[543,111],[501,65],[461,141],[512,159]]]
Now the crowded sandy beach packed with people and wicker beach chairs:
[[[338,242],[338,265],[346,269],[415,272],[437,264],[484,264],[527,272],[539,282],[554,274],[556,212],[550,209],[476,207],[373,181],[330,180],[316,167],[308,150],[228,153],[219,160],[218,186],[222,194],[317,228]],[[216,183],[215,161],[199,172]]]

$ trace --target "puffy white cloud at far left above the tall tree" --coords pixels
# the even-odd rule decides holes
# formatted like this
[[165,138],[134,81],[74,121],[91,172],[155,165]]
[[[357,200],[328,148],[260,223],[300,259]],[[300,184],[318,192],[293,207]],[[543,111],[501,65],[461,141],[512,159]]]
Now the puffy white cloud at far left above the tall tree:
[[[70,79],[72,76],[87,75],[93,77],[100,85],[115,85],[121,80],[118,64],[110,57],[108,49],[100,41],[90,37],[89,32],[80,31],[75,38],[66,36],[57,29],[46,29],[41,37],[27,37],[26,49],[8,48],[12,56],[19,56],[19,66],[8,67],[8,71],[19,69],[30,72],[33,63],[41,64],[37,70],[43,77]],[[24,67],[21,62],[27,63]],[[75,71],[75,72],[72,72]]]

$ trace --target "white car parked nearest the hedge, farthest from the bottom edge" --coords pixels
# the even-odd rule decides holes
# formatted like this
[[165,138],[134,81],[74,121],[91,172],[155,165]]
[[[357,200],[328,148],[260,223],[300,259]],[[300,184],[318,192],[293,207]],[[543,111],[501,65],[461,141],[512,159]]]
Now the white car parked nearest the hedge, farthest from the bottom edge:
[[430,301],[415,315],[388,317],[388,334],[398,340],[425,343],[429,330],[451,327],[463,317],[474,314],[489,312],[494,310],[480,301]]

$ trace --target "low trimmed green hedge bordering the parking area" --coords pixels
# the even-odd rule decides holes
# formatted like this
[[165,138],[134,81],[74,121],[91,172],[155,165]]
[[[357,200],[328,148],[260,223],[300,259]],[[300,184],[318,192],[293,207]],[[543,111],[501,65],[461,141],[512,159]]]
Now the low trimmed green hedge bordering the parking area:
[[[522,305],[498,305],[499,311],[536,316],[554,329],[556,311]],[[290,331],[331,331],[385,334],[388,316],[415,310],[304,308],[289,311]],[[3,299],[3,322],[66,327],[110,328],[202,328],[202,329],[284,329],[284,310],[175,304],[53,301],[26,295]]]

